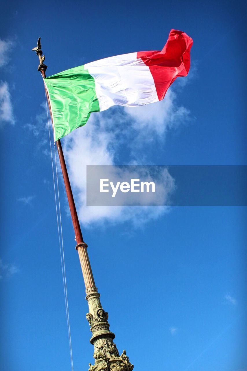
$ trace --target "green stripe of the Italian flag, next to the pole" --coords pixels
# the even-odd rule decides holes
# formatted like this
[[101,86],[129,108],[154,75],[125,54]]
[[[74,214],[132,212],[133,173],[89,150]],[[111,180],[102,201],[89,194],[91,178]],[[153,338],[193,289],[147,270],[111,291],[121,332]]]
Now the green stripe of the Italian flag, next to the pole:
[[49,92],[55,141],[83,126],[90,112],[100,111],[94,78],[84,66],[44,79]]

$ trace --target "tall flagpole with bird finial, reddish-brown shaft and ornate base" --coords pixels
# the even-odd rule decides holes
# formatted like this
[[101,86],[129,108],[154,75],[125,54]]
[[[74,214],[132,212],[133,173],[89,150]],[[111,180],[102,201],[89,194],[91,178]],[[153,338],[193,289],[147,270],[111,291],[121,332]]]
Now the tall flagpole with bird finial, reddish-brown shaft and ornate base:
[[[43,52],[41,50],[40,37],[37,42],[37,47],[33,48],[32,50],[35,51],[39,57],[40,64],[38,71],[41,72],[41,75],[44,79],[46,78],[47,66],[43,63],[45,56],[42,56]],[[52,119],[49,94],[46,88],[45,90],[50,109],[50,116]],[[93,357],[95,359],[94,365],[91,365],[91,363],[89,364],[89,371],[132,371],[134,366],[130,363],[126,355],[126,351],[124,350],[123,353],[119,355],[116,344],[113,342],[115,335],[109,330],[110,325],[108,322],[108,313],[104,311],[100,303],[100,293],[98,292],[94,282],[89,256],[87,253],[87,244],[84,242],[82,237],[81,227],[74,203],[74,197],[71,190],[69,175],[67,172],[60,139],[56,141],[56,146],[61,164],[65,190],[69,202],[71,219],[76,235],[76,250],[79,254],[81,270],[83,273],[86,288],[86,300],[89,305],[89,313],[86,314],[86,318],[89,322],[90,330],[92,332],[90,343],[94,345]]]

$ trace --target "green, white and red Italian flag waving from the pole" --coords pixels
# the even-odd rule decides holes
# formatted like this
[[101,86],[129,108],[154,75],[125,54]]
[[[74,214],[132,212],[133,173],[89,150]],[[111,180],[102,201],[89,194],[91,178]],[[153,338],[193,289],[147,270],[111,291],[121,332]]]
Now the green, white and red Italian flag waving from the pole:
[[54,140],[85,125],[91,112],[161,101],[178,76],[187,76],[192,43],[171,30],[161,51],[104,58],[45,78]]

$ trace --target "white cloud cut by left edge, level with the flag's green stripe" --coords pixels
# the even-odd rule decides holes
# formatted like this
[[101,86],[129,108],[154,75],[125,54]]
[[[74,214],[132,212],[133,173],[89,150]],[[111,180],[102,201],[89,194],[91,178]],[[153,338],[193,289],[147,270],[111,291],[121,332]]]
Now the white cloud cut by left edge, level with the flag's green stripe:
[[9,84],[6,81],[0,81],[0,126],[7,122],[14,124],[13,106]]

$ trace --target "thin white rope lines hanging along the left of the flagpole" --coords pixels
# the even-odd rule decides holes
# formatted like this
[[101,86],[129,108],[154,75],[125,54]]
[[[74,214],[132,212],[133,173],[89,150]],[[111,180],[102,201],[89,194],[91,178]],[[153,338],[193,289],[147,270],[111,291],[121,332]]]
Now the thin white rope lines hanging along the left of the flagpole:
[[[49,139],[50,139],[51,167],[52,167],[54,196],[55,196],[55,204],[56,204],[57,230],[58,230],[58,236],[59,236],[60,259],[61,259],[61,268],[62,268],[62,276],[63,276],[64,301],[65,301],[65,308],[66,308],[67,329],[68,329],[68,335],[69,335],[70,361],[71,361],[71,370],[74,371],[73,354],[72,354],[72,346],[71,346],[70,317],[69,317],[69,305],[68,305],[68,295],[67,295],[66,270],[65,270],[65,263],[64,263],[63,229],[62,229],[62,221],[61,221],[59,183],[58,183],[58,175],[57,175],[57,160],[56,160],[56,151],[55,151],[55,143],[54,143],[54,158],[55,158],[55,169],[56,169],[56,180],[57,180],[57,196],[56,196],[54,161],[53,161],[53,155],[52,155],[52,149],[51,149],[51,134],[50,134],[50,122],[49,122],[49,116],[48,116],[47,98],[46,98],[46,112],[47,112],[47,124],[48,124],[48,131],[49,131]],[[57,206],[57,204],[58,204],[59,207]],[[60,221],[60,226],[59,226],[59,221]],[[60,231],[61,231],[61,237],[60,237]]]

